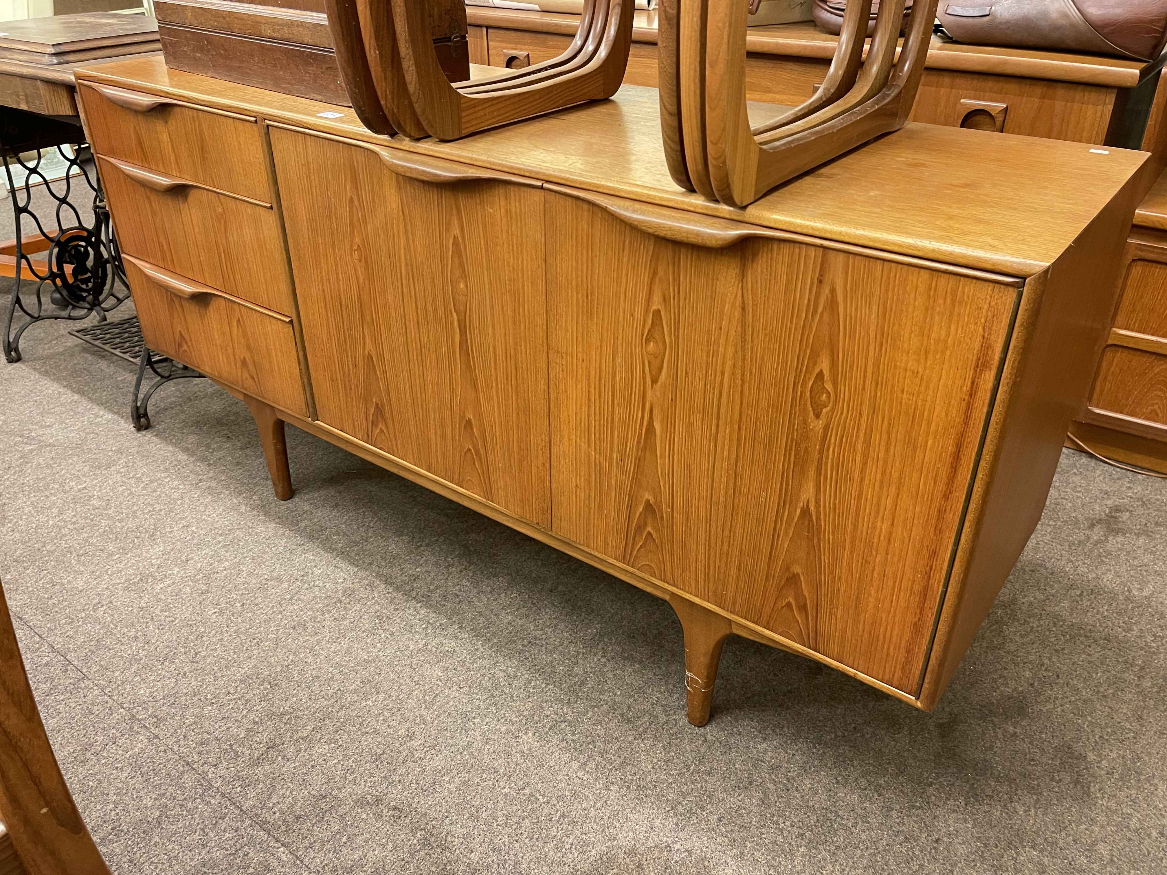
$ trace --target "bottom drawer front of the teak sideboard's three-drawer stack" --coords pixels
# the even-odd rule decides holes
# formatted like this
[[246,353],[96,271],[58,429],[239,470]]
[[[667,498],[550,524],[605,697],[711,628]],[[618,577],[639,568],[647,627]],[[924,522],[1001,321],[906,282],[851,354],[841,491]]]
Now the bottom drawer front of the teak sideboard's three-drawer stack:
[[151,349],[277,407],[308,415],[291,318],[132,256],[125,262]]

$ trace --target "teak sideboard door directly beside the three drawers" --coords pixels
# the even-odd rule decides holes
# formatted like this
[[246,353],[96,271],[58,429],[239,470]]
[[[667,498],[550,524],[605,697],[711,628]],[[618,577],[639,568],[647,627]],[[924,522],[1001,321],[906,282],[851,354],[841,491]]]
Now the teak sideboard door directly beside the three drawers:
[[271,133],[320,420],[550,526],[540,191]]

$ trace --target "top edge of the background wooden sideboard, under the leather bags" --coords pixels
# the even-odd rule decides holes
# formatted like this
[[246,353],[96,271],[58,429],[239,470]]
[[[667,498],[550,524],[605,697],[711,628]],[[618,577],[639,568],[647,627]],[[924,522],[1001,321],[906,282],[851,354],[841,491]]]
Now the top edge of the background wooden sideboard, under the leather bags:
[[[574,34],[579,27],[579,15],[501,9],[487,6],[468,6],[466,12],[471,24],[482,27],[534,30],[546,34]],[[633,40],[647,43],[657,41],[656,9],[636,10]],[[834,54],[838,41],[838,36],[817,28],[813,22],[799,21],[792,24],[749,28],[746,48],[763,55],[830,58]],[[928,52],[927,66],[937,70],[1023,76],[1033,79],[1054,79],[1056,82],[1077,82],[1086,85],[1110,85],[1111,88],[1126,89],[1138,85],[1144,76],[1154,72],[1161,63],[1161,61],[1147,63],[1070,51],[966,46],[942,36],[934,36],[931,49]]]

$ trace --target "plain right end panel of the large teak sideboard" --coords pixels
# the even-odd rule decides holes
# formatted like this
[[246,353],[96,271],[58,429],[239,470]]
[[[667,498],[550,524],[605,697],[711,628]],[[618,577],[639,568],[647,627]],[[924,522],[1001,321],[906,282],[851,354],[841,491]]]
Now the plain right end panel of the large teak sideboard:
[[1029,279],[920,691],[936,706],[1046,508],[1070,419],[1086,399],[1118,295],[1148,164],[1061,258]]

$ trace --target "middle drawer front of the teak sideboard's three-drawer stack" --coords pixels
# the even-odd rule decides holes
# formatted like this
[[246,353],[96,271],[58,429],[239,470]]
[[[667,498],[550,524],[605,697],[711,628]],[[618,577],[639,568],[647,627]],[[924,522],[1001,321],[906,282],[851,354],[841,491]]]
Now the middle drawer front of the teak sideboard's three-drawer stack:
[[271,204],[98,156],[123,252],[292,315],[292,286]]

